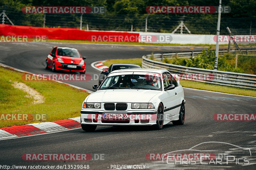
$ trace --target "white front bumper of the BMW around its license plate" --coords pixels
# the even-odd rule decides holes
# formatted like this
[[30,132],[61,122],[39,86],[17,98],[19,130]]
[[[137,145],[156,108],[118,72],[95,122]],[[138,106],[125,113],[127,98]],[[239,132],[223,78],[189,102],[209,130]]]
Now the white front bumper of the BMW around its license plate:
[[[105,114],[127,114],[127,118],[103,118]],[[96,118],[98,115],[98,118]],[[124,125],[153,125],[156,124],[157,110],[140,110],[140,111],[103,111],[103,110],[81,110],[81,124],[92,125],[110,125],[110,126],[124,126]]]

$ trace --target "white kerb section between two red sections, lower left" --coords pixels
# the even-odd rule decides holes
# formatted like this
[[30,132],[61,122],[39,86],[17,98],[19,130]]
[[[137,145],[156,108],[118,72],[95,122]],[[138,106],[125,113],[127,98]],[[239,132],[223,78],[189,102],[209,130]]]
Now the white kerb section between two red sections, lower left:
[[57,130],[68,129],[68,128],[60,126],[59,124],[54,123],[54,122],[32,123],[32,124],[28,124],[28,125],[32,125],[38,129],[44,130],[45,132],[53,132],[53,131],[57,131]]

